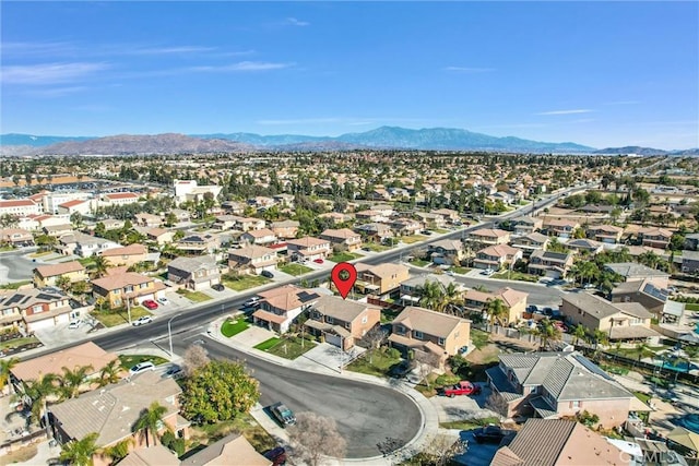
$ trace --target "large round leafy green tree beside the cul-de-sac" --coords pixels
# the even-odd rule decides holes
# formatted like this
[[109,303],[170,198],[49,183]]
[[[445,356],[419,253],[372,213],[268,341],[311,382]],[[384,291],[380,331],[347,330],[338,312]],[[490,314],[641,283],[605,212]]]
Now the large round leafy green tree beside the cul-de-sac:
[[213,423],[247,413],[259,398],[259,382],[242,363],[210,361],[185,379],[181,413],[188,419]]

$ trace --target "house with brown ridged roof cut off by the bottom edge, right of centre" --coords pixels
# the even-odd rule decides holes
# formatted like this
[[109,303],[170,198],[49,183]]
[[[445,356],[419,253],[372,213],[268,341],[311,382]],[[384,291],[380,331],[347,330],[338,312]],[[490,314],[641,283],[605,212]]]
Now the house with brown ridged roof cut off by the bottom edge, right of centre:
[[630,457],[602,435],[567,419],[529,419],[514,439],[501,446],[493,466],[628,465]]

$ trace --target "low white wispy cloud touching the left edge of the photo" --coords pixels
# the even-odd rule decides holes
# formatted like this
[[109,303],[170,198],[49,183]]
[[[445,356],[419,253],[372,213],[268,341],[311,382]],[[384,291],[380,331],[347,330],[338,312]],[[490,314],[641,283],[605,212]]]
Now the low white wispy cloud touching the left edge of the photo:
[[107,63],[43,63],[4,67],[0,80],[7,84],[57,84],[76,81],[109,68]]

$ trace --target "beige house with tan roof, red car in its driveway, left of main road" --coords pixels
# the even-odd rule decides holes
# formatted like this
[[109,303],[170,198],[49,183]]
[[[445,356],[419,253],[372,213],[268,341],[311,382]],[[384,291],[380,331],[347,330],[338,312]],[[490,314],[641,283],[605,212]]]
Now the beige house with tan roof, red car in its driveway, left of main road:
[[157,299],[163,296],[164,290],[163,282],[135,272],[115,273],[92,280],[93,296],[104,298],[110,309]]

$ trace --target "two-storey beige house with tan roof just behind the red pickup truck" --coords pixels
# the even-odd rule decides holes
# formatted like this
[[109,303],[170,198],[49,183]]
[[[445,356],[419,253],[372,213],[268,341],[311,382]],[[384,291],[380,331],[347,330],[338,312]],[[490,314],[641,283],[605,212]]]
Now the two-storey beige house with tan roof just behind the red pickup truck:
[[439,366],[449,356],[465,353],[471,345],[471,321],[414,306],[406,307],[391,322],[391,346],[415,358],[431,355]]

